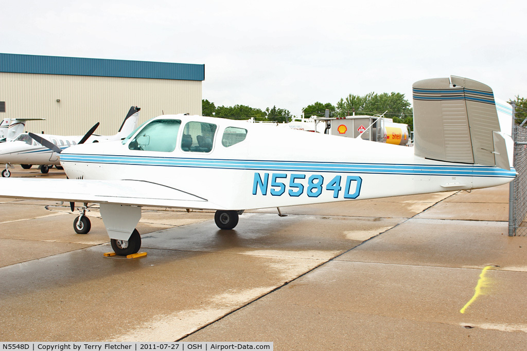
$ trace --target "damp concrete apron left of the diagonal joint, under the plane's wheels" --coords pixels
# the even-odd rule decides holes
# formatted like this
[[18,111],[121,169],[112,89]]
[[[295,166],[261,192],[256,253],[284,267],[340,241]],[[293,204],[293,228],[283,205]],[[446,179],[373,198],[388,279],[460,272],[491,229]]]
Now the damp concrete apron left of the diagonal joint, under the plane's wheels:
[[78,235],[74,215],[22,203],[0,204],[18,206],[0,223],[2,341],[176,340],[405,220],[247,213],[225,231],[212,213],[147,211],[148,256],[123,259],[103,257],[96,211]]

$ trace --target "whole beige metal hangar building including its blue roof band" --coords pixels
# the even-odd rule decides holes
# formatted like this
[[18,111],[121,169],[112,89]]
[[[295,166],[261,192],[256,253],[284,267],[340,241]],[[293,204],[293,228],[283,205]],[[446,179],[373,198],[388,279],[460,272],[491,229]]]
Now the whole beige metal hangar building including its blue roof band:
[[205,65],[0,53],[0,119],[31,121],[25,131],[117,133],[130,106],[140,123],[161,114],[201,115]]

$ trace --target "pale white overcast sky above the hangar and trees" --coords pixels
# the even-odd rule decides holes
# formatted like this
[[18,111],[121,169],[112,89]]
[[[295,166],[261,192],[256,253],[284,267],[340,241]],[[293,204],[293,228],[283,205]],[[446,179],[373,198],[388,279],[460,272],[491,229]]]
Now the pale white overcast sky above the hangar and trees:
[[0,0],[0,52],[205,65],[203,98],[276,105],[458,75],[527,97],[527,2]]

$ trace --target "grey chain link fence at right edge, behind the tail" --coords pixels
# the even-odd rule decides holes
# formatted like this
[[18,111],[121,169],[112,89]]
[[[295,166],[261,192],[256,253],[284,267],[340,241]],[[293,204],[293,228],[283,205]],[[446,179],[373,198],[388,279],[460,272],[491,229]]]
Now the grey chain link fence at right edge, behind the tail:
[[515,126],[513,138],[518,176],[509,187],[509,235],[527,236],[527,127]]

